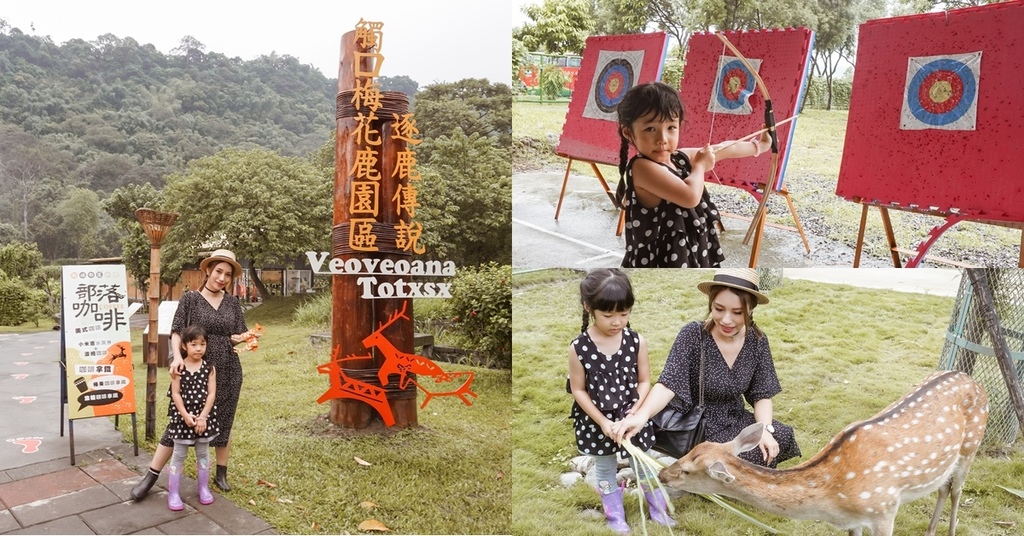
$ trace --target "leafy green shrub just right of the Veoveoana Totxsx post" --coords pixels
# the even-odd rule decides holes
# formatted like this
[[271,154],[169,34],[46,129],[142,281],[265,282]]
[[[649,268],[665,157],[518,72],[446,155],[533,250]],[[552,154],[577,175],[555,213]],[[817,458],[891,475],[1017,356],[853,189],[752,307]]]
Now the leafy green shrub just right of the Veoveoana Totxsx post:
[[453,337],[489,367],[512,368],[512,266],[465,269],[452,281]]

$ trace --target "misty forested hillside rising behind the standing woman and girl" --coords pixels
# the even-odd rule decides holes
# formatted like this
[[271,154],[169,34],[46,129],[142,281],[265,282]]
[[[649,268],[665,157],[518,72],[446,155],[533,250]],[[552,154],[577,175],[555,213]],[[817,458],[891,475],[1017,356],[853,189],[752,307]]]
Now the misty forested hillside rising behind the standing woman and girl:
[[[408,77],[381,83],[417,91]],[[0,245],[120,255],[99,207],[117,189],[161,190],[225,148],[305,156],[331,139],[336,93],[287,54],[242,60],[188,36],[168,54],[111,34],[56,44],[0,17]]]

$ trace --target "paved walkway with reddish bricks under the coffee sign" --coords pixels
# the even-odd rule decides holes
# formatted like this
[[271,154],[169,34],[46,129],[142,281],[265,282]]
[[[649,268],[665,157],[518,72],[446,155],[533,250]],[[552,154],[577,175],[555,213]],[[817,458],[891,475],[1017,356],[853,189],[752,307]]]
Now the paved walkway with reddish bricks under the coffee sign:
[[[167,508],[167,470],[150,496],[129,495],[150,465],[109,418],[60,418],[60,334],[0,334],[0,534],[275,534],[216,493],[201,505],[182,479],[185,508]],[[67,419],[67,414],[65,414]],[[139,435],[144,423],[139,419]]]

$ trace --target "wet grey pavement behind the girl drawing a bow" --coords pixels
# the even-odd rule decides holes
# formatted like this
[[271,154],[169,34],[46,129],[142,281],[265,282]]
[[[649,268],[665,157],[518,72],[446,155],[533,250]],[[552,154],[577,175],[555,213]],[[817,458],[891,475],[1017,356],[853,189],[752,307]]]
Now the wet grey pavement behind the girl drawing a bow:
[[[596,177],[569,175],[561,212],[555,219],[563,177],[564,170],[512,176],[512,265],[517,272],[544,267],[586,270],[617,266],[622,262],[626,239],[615,236],[618,211]],[[711,185],[713,198],[715,188],[727,187]],[[750,219],[730,215],[722,219],[723,265],[746,266],[751,248],[742,240]],[[807,238],[810,253],[796,231],[766,225],[758,266],[853,266],[853,248],[820,237]],[[860,265],[891,267],[892,263],[862,256]]]

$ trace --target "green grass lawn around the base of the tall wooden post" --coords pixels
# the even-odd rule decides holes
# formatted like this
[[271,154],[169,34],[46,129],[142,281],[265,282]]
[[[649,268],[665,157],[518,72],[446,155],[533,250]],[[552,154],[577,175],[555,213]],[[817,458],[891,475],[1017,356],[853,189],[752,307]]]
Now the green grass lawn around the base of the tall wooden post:
[[[328,388],[316,366],[330,361],[330,349],[310,344],[317,330],[292,324],[295,305],[281,298],[247,313],[249,327],[259,322],[266,334],[258,351],[240,355],[245,383],[232,430],[233,489],[224,495],[282,534],[359,534],[369,519],[397,534],[509,533],[511,372],[438,363],[447,372],[476,373],[471,407],[437,398],[419,410],[417,428],[338,429],[327,420],[330,403],[316,403]],[[152,452],[167,422],[169,378],[160,371],[157,440],[143,442],[146,367],[137,330],[133,341],[139,440]],[[130,419],[121,429],[130,440]],[[195,477],[195,465],[185,466]]]

